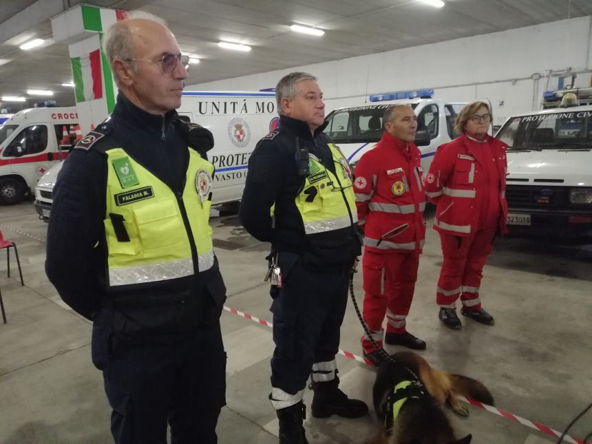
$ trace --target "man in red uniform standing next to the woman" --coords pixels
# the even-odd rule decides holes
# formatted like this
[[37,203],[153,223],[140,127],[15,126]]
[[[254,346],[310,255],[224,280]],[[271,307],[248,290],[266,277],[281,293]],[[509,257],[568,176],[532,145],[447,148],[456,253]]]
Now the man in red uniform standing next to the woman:
[[[363,318],[380,347],[425,349],[425,341],[405,330],[425,238],[425,191],[421,154],[414,144],[417,118],[412,107],[394,105],[383,117],[385,132],[355,169],[358,224],[364,231]],[[382,328],[387,317],[386,335]],[[361,338],[363,355],[380,362],[370,338]]]

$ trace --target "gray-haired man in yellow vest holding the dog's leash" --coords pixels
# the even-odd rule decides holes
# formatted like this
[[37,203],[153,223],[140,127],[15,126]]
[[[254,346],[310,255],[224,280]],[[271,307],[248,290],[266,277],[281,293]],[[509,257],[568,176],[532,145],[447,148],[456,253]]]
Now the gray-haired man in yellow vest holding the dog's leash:
[[368,413],[365,403],[339,390],[335,362],[360,244],[352,172],[322,132],[325,105],[316,78],[293,72],[275,94],[279,130],[262,138],[249,159],[239,216],[249,233],[271,242],[275,351],[269,399],[279,418],[279,442],[303,444],[309,375],[313,416]]

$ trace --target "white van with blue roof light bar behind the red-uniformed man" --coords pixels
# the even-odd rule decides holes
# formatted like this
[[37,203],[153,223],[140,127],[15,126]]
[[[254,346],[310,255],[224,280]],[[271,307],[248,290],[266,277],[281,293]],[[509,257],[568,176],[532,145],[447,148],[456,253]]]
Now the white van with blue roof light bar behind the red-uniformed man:
[[392,105],[411,105],[417,116],[415,143],[421,151],[421,166],[430,167],[436,149],[450,142],[454,133],[454,120],[466,103],[446,102],[433,98],[434,89],[373,94],[372,105],[338,108],[326,118],[324,129],[333,142],[354,166],[362,154],[374,148],[383,134],[382,117]]

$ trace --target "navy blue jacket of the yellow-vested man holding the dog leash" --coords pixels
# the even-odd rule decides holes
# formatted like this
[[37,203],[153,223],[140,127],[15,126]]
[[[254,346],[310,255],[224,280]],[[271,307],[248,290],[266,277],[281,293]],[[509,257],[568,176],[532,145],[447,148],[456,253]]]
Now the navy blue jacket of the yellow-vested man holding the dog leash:
[[[304,177],[298,175],[295,160],[297,139],[300,148],[308,149],[335,173],[335,162],[328,147],[330,139],[322,129],[317,128],[313,134],[303,120],[280,116],[279,130],[262,138],[249,158],[249,174],[246,176],[239,218],[251,235],[263,242],[271,242],[272,251],[317,256],[326,253],[321,262],[330,267],[331,261],[338,255],[350,255],[352,250],[352,254],[359,254],[355,229],[306,236],[304,222],[295,203],[296,196],[304,187]],[[270,207],[274,203],[275,220],[272,225]],[[326,251],[319,251],[319,244],[327,246]],[[329,249],[339,250],[340,253],[329,253]]]

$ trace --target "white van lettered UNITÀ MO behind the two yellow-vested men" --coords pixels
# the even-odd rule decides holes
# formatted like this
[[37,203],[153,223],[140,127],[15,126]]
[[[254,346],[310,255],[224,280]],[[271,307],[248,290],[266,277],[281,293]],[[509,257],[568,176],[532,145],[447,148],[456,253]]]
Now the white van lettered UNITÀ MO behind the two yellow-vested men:
[[[180,116],[209,129],[214,147],[208,152],[215,167],[213,204],[240,200],[247,162],[257,142],[279,124],[274,92],[185,91]],[[61,164],[41,178],[35,190],[35,207],[47,220],[52,204],[52,189]]]

